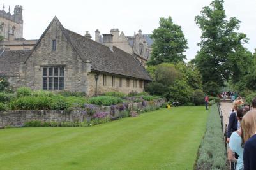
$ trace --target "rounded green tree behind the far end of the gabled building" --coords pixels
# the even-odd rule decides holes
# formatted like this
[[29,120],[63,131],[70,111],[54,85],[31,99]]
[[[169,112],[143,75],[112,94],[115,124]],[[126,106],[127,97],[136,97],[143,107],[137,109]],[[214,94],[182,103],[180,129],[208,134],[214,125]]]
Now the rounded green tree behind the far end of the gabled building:
[[186,59],[183,54],[188,48],[181,26],[172,22],[172,18],[160,18],[160,27],[154,29],[151,38],[154,39],[151,58],[148,66],[158,65],[162,62],[176,63]]

